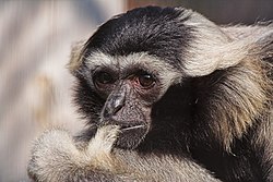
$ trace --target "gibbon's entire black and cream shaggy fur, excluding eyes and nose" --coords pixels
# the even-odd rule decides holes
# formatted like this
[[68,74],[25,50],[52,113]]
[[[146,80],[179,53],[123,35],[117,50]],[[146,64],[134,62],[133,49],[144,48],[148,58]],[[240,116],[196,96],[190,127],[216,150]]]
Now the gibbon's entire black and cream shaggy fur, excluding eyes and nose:
[[[72,51],[75,102],[87,130],[75,141],[46,132],[34,145],[29,177],[273,181],[272,62],[272,24],[217,26],[182,8],[117,15]],[[106,98],[94,84],[97,70],[119,83]],[[135,70],[156,78],[144,96],[128,85]],[[104,112],[117,96],[126,97],[122,114],[108,122]],[[143,131],[124,131],[134,121]]]

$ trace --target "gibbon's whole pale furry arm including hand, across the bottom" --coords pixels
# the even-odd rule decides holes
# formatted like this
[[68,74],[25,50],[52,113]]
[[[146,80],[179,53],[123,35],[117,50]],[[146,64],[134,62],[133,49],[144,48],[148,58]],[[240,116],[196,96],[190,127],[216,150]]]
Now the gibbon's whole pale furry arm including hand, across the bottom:
[[103,126],[86,147],[79,148],[67,131],[49,130],[34,144],[28,175],[37,182],[219,181],[187,158],[112,150],[118,132],[118,126]]

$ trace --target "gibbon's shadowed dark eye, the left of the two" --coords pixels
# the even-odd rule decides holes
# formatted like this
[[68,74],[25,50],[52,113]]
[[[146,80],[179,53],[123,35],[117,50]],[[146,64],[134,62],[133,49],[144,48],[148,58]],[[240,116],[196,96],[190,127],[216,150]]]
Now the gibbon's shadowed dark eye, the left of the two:
[[112,84],[115,80],[110,73],[102,71],[102,72],[95,73],[93,77],[93,82],[97,87],[104,87],[109,84]]

